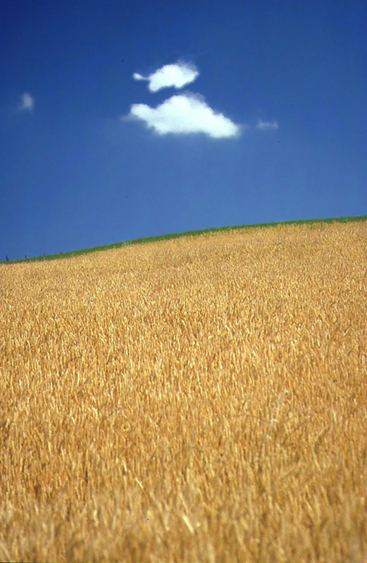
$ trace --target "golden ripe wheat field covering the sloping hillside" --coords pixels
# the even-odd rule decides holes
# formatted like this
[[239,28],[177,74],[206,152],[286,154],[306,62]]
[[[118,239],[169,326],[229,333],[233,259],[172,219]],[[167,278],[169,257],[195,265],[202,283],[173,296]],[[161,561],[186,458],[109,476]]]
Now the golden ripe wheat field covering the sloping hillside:
[[367,223],[0,265],[0,559],[367,561]]

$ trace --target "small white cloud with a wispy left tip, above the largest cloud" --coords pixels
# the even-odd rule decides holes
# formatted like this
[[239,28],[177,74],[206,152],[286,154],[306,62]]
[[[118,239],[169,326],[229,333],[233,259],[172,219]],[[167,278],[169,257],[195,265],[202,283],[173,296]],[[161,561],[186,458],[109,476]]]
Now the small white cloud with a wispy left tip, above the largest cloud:
[[134,72],[132,75],[135,80],[147,80],[151,92],[157,92],[161,88],[182,88],[185,84],[194,82],[198,76],[199,71],[196,66],[183,61],[178,61],[174,65],[164,65],[148,77],[140,75],[139,72]]

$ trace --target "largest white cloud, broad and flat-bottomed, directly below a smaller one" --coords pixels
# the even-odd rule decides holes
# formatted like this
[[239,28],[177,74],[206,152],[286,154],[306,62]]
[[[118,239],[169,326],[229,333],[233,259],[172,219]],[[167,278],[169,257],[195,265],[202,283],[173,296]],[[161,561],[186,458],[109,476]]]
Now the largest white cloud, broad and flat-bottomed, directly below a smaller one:
[[160,135],[205,133],[220,139],[237,137],[241,129],[223,113],[215,113],[203,96],[190,93],[172,96],[156,108],[134,103],[128,118],[145,121],[147,127],[152,127]]

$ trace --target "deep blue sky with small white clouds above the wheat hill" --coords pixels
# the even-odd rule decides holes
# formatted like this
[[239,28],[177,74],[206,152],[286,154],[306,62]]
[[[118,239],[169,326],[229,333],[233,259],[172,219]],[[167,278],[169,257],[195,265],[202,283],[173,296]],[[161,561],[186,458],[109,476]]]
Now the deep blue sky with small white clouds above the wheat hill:
[[367,214],[365,1],[2,0],[0,27],[0,260]]

